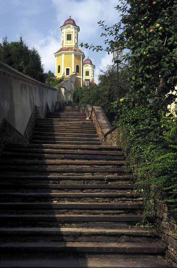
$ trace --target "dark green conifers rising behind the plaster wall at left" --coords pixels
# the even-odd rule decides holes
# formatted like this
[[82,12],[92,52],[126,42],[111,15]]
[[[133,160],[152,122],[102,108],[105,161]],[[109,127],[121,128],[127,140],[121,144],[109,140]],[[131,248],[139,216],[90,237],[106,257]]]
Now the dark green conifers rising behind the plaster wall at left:
[[0,60],[37,81],[45,82],[44,66],[38,51],[34,46],[30,50],[22,36],[19,42],[11,43],[7,37],[3,38],[0,43]]

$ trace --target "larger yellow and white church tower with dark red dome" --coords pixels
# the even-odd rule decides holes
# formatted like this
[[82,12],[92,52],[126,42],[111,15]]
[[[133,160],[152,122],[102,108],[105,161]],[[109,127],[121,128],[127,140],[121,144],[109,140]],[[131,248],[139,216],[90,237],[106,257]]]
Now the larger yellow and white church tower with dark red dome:
[[78,48],[79,27],[70,18],[60,27],[62,32],[62,47],[54,53],[56,58],[57,78],[76,73],[76,86],[83,86],[83,60],[84,53]]

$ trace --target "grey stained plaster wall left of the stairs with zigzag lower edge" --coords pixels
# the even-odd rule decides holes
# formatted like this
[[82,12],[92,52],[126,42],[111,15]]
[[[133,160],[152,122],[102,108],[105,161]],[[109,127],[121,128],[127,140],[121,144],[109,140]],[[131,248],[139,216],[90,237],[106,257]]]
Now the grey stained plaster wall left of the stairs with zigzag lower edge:
[[34,106],[40,106],[43,118],[46,102],[51,110],[52,105],[59,100],[58,91],[0,61],[0,122],[6,118],[24,135]]

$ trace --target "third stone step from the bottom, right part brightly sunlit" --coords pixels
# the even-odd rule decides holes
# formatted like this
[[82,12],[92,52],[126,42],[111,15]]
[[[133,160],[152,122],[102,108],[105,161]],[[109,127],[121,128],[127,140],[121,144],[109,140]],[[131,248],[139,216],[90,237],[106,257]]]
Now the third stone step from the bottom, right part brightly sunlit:
[[[31,241],[35,237],[35,241],[50,240],[56,241],[125,241],[138,242],[154,241],[159,239],[159,233],[149,228],[1,228],[1,242]],[[23,241],[24,240],[24,241]]]

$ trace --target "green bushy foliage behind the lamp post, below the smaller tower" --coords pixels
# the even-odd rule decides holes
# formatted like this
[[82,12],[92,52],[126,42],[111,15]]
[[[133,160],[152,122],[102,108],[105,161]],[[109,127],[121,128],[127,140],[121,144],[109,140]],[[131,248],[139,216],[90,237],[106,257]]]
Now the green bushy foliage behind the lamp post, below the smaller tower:
[[[119,66],[119,97],[124,97],[129,91],[128,75],[130,69],[124,63]],[[90,83],[86,87],[76,88],[73,92],[73,102],[77,105],[91,104],[92,106],[101,106],[112,123],[115,120],[115,112],[112,109],[111,102],[117,99],[117,66],[107,66],[106,71],[98,75],[99,83]]]

